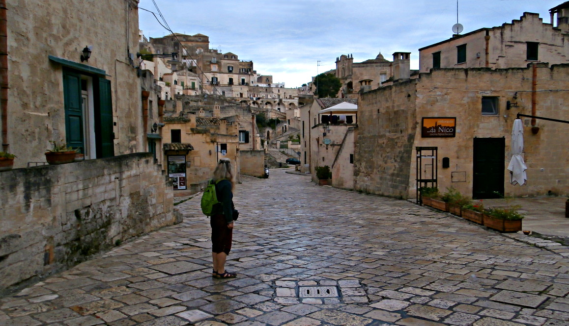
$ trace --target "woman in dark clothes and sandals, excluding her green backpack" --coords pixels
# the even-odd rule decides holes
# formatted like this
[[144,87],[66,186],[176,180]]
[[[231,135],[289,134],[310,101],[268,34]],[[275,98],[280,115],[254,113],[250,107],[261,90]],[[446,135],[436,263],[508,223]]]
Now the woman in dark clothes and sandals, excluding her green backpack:
[[213,206],[209,221],[212,227],[212,257],[215,278],[234,278],[236,273],[225,270],[225,260],[231,250],[233,238],[233,189],[235,187],[233,169],[229,158],[221,158],[213,172],[215,191],[219,203]]

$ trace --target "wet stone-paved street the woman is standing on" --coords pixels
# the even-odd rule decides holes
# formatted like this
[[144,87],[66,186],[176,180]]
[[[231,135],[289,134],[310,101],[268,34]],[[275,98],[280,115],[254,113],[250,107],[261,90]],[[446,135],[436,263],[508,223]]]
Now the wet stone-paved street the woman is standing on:
[[236,279],[211,277],[196,196],[183,223],[0,299],[0,325],[569,325],[559,244],[284,170],[234,201]]

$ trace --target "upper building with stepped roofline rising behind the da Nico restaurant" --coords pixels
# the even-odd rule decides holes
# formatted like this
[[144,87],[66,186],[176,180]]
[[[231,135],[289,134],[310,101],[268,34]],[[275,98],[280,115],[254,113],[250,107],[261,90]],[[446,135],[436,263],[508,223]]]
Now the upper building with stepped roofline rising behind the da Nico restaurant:
[[[453,35],[451,39],[420,48],[419,70],[525,67],[533,62],[569,63],[567,6],[566,2],[552,9],[549,24],[543,23],[539,14],[524,12],[512,23]],[[554,13],[558,15],[556,26]]]

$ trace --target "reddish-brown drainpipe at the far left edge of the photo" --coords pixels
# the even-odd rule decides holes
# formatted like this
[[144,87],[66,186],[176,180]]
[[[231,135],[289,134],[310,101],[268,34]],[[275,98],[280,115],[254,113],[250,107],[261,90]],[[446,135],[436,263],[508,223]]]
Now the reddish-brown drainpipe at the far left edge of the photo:
[[8,20],[6,0],[0,0],[0,108],[2,108],[2,151],[8,143]]

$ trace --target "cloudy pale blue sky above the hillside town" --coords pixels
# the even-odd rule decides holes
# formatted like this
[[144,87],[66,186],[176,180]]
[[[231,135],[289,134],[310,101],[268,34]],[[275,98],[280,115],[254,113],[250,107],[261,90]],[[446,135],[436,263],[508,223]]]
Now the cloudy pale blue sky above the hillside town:
[[[458,22],[462,34],[511,23],[525,11],[549,23],[549,9],[564,1],[458,0]],[[155,3],[172,31],[205,34],[210,48],[253,60],[257,73],[286,87],[334,69],[336,57],[348,53],[361,62],[411,52],[411,69],[418,69],[418,49],[451,37],[457,22],[456,0],[140,0],[139,7],[157,13]],[[139,19],[146,37],[170,34],[149,12],[139,10]]]

